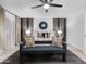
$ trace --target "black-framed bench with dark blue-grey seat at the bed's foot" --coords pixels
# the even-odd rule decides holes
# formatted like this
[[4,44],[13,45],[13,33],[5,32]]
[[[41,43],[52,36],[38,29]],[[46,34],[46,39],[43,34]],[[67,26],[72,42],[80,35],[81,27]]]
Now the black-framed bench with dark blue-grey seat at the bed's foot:
[[42,53],[53,53],[53,54],[62,54],[63,61],[66,61],[66,43],[63,43],[63,47],[52,47],[52,46],[41,46],[41,47],[23,47],[23,44],[20,46],[20,57],[22,60],[22,56],[24,54],[42,54]]

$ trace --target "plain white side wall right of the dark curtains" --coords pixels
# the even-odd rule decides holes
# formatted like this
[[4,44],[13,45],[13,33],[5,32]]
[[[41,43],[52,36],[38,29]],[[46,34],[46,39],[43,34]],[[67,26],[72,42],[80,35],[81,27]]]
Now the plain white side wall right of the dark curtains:
[[84,11],[67,17],[67,43],[84,51]]

